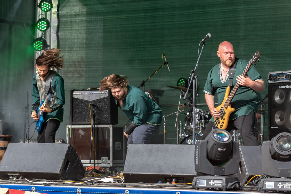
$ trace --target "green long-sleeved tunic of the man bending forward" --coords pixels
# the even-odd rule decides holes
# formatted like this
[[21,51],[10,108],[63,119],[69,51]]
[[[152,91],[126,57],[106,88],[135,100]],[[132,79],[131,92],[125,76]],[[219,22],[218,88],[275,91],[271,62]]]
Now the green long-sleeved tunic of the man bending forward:
[[[115,103],[118,105],[116,100]],[[120,109],[136,125],[142,123],[161,125],[162,123],[162,109],[137,87],[128,85],[127,94],[122,100]]]

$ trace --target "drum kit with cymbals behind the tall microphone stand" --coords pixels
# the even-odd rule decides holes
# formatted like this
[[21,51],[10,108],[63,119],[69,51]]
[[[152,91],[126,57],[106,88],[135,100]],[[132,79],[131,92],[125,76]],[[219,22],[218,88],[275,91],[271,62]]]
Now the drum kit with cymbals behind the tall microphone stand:
[[[174,89],[179,89],[181,91],[181,95],[183,92],[187,91],[187,88],[181,87],[181,86],[167,86],[170,88]],[[189,89],[189,91],[193,91]],[[181,101],[181,96],[180,96],[180,101]],[[178,111],[173,112],[171,114],[176,114],[176,123],[175,127],[177,128],[177,144],[195,144],[193,143],[196,141],[199,141],[202,139],[202,134],[208,124],[208,121],[211,118],[211,114],[209,111],[203,110],[203,109],[198,109],[194,107],[193,111],[193,105],[191,103],[191,100],[189,100],[188,105],[186,103],[184,104],[179,104],[178,105],[169,105],[173,107],[177,107]],[[184,110],[187,111],[187,113],[184,113]],[[184,126],[182,126],[182,122],[178,121],[178,114],[183,113],[185,115],[184,119]],[[169,114],[169,115],[171,115]],[[193,117],[193,114],[195,115]],[[164,142],[166,142],[166,117],[169,116],[163,116],[164,119]],[[194,134],[194,137],[193,137]],[[179,143],[179,138],[182,139]]]

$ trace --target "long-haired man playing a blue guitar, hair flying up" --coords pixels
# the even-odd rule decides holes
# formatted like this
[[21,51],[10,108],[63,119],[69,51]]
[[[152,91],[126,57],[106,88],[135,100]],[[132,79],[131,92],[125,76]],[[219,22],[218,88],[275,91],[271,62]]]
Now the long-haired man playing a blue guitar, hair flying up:
[[[52,48],[43,51],[36,59],[37,73],[32,80],[32,110],[31,117],[39,121],[38,112],[43,113],[44,122],[40,123],[38,143],[54,143],[56,131],[63,122],[63,105],[65,104],[65,90],[63,78],[54,70],[64,67],[63,56],[59,49]],[[54,70],[52,70],[54,69]],[[46,90],[47,89],[47,90]],[[41,104],[46,96],[52,96],[46,104]]]

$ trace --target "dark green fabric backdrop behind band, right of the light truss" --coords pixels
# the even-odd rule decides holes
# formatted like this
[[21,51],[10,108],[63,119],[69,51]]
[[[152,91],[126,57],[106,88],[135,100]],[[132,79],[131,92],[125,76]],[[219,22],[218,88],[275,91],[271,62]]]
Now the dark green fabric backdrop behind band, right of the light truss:
[[[205,103],[207,73],[220,62],[216,51],[222,41],[233,44],[238,58],[249,60],[258,50],[256,68],[265,83],[270,71],[290,69],[291,1],[60,0],[59,14],[60,48],[65,55],[60,74],[67,99],[63,125],[69,122],[70,90],[99,87],[100,80],[112,73],[128,76],[138,87],[162,65],[162,53],[171,71],[159,69],[145,88],[164,90],[159,96],[163,115],[175,112],[177,108],[164,105],[178,104],[180,91],[166,86],[190,76],[199,42],[207,33],[212,37],[197,68],[199,104]],[[260,94],[264,97],[267,88]],[[208,110],[205,105],[198,108]],[[265,131],[267,118],[266,114]],[[176,142],[175,119],[175,114],[167,117],[167,143]],[[119,112],[119,123],[126,122]]]

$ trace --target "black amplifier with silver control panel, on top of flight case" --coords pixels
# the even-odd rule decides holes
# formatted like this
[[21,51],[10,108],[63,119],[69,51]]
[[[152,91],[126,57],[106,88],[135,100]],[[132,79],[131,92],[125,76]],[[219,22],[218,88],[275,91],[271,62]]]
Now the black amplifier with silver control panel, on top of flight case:
[[[72,125],[118,124],[118,107],[110,90],[71,90],[70,114]],[[93,121],[92,121],[93,122]]]

